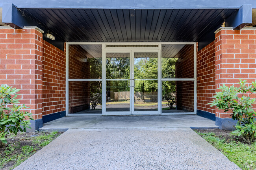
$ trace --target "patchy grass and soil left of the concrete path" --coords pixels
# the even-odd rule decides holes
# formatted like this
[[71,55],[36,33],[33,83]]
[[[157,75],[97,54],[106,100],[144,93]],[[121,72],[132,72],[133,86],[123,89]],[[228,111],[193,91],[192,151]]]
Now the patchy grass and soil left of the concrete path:
[[[49,144],[62,132],[37,132],[10,134],[7,145],[0,148],[0,169],[9,170],[20,165],[31,155]],[[31,135],[37,135],[31,137]]]

